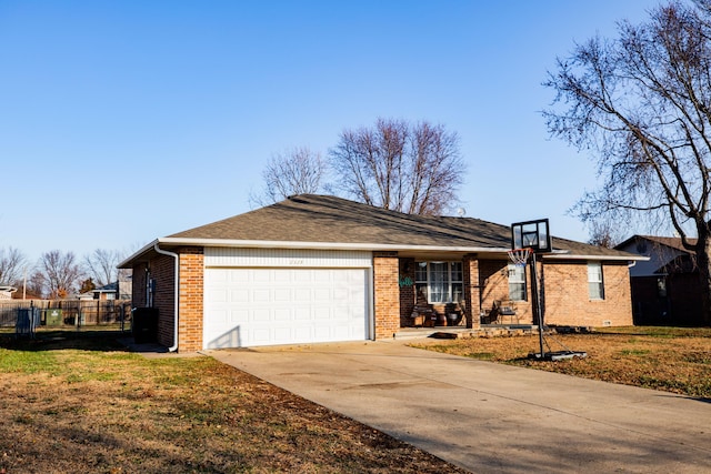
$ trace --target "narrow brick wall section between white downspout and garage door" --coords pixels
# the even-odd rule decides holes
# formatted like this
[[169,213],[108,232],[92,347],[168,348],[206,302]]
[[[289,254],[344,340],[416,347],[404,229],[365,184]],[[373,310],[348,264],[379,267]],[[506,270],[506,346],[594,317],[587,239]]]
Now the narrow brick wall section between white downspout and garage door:
[[202,349],[204,259],[202,248],[182,248],[180,255],[180,312],[178,352]]

